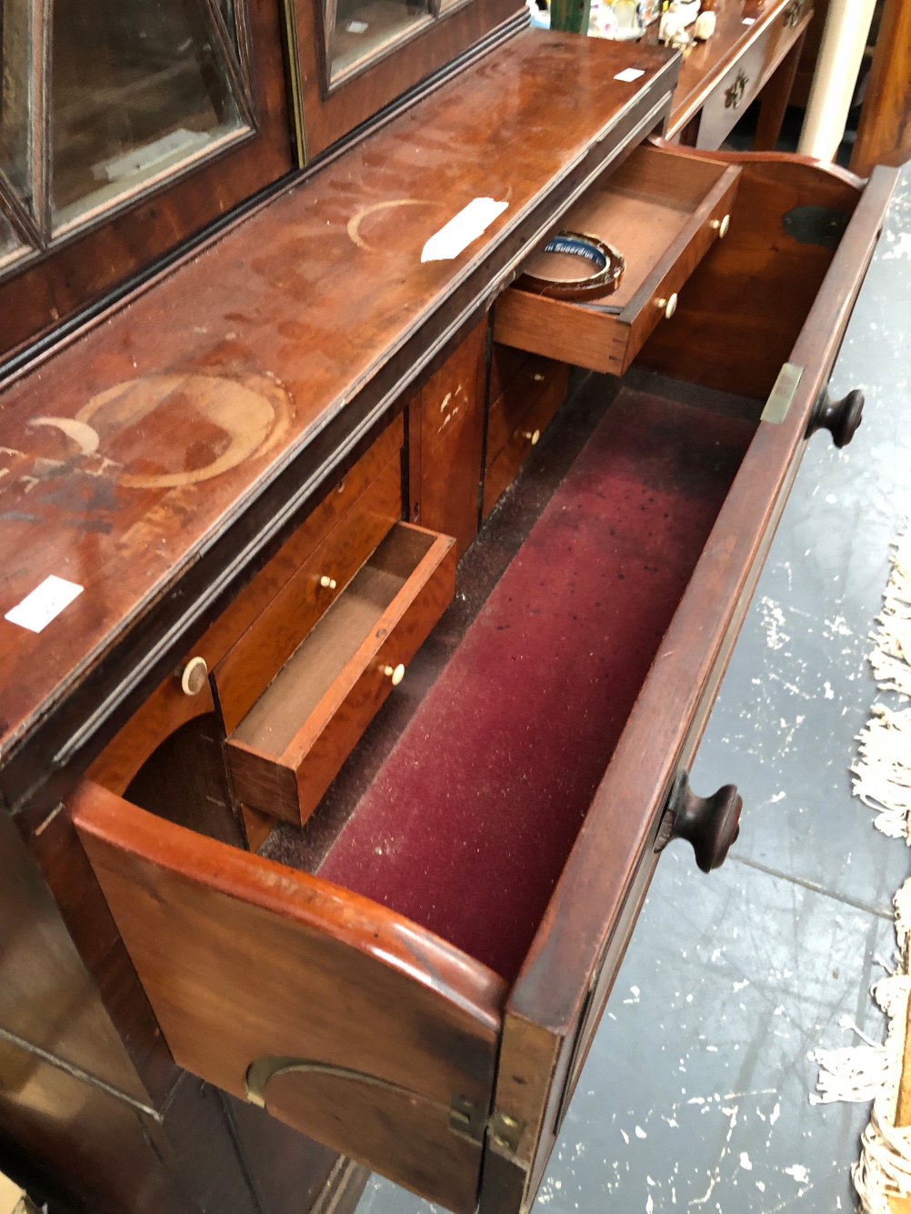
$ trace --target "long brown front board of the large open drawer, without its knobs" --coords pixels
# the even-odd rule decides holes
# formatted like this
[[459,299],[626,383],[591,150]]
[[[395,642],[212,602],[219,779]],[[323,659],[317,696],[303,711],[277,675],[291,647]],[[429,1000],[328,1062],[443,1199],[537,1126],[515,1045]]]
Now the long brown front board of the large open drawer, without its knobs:
[[895,180],[878,170],[858,204],[790,352],[804,373],[787,416],[759,425],[511,992],[494,1117],[523,1128],[517,1150],[490,1146],[482,1214],[518,1208],[540,1184],[648,889],[667,792],[699,744]]

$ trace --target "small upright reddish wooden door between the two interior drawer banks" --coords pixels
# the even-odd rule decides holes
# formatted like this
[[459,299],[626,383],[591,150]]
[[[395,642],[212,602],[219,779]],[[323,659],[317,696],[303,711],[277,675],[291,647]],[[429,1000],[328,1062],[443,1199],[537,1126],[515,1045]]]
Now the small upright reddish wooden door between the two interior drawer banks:
[[409,518],[452,535],[460,560],[478,533],[488,317],[409,401]]

